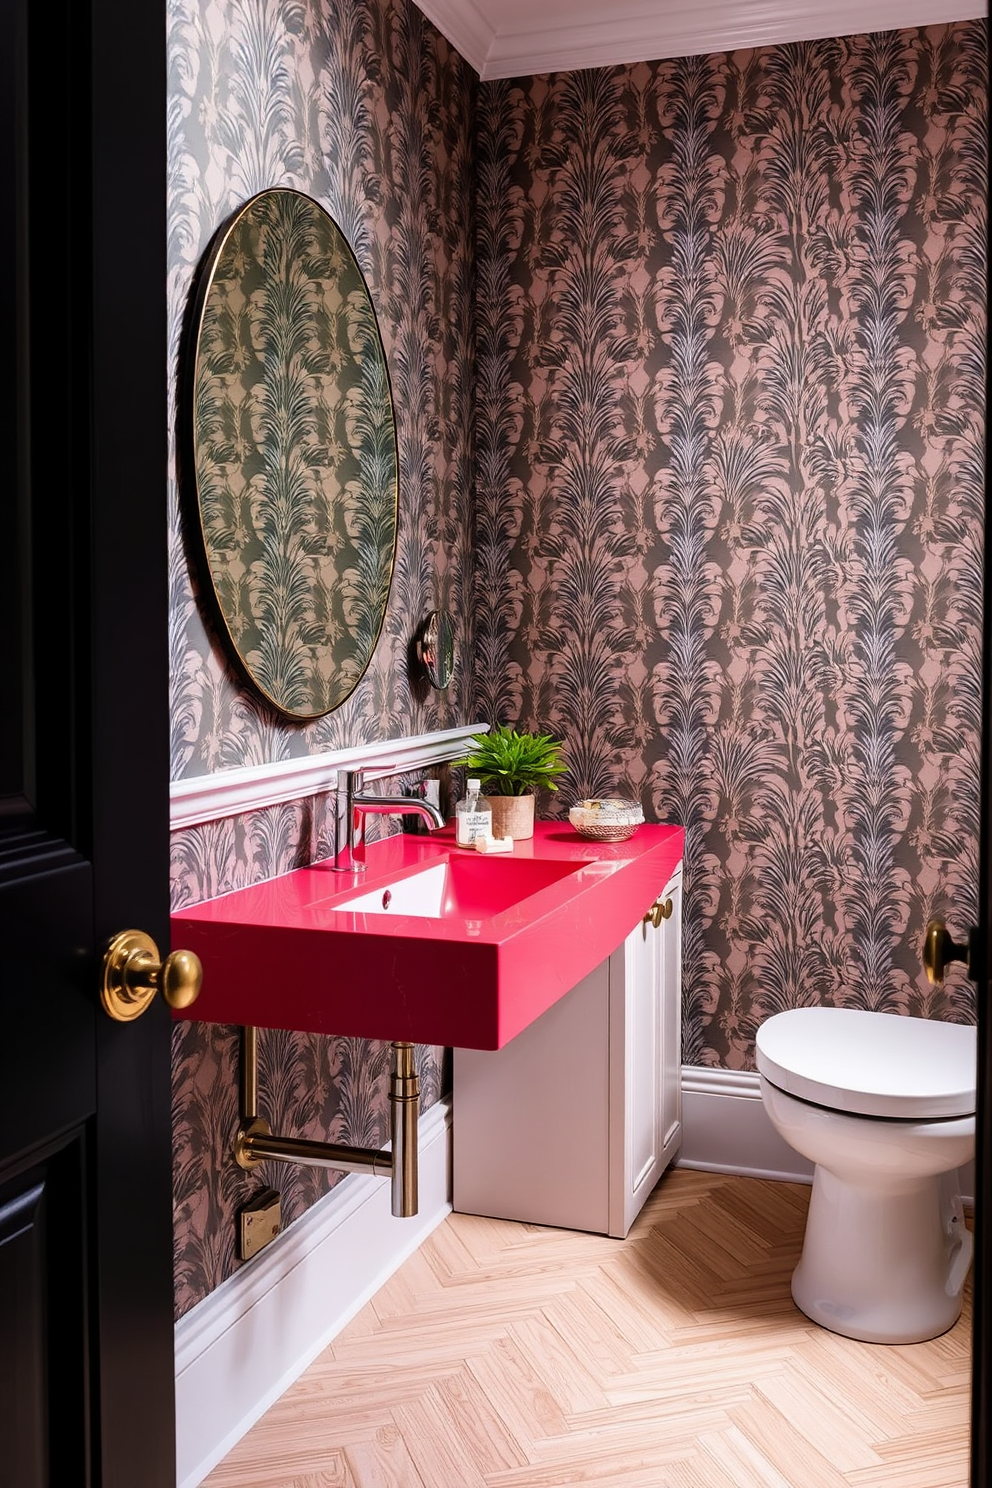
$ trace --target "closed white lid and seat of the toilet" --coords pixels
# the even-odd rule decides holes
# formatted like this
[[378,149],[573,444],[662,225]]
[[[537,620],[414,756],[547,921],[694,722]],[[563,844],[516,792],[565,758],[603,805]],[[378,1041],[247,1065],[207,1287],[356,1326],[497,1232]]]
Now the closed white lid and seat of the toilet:
[[757,1067],[772,1085],[861,1116],[970,1116],[976,1064],[974,1027],[900,1013],[793,1007],[757,1031]]

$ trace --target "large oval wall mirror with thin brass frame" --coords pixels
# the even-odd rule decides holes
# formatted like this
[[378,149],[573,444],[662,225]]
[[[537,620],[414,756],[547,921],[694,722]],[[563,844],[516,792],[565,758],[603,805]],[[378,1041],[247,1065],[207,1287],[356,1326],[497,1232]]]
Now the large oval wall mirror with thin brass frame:
[[396,557],[390,376],[361,269],[309,196],[260,192],[201,269],[186,417],[202,557],[233,653],[317,719],[372,661]]

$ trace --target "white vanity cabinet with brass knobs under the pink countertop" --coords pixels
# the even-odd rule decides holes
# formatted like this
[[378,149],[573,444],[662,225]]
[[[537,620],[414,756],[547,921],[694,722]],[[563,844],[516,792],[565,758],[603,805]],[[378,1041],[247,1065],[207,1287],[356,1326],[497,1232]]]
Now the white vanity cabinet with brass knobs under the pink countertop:
[[681,1144],[681,863],[668,900],[506,1048],[455,1049],[455,1210],[626,1235]]

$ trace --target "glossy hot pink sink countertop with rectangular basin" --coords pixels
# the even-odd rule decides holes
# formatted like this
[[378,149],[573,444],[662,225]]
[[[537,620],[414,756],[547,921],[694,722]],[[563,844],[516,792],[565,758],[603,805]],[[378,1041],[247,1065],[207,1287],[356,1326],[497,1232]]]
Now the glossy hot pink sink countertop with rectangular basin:
[[[538,821],[513,853],[483,854],[448,826],[369,845],[361,875],[297,868],[173,915],[173,945],[204,963],[198,1001],[173,1016],[500,1049],[626,939],[683,844],[675,826],[587,842]],[[437,918],[338,908],[449,859]]]

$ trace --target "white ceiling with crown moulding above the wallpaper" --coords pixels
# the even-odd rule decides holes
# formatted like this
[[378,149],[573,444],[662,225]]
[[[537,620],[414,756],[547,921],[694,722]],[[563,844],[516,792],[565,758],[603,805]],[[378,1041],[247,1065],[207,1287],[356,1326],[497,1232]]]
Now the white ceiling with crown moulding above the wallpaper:
[[986,0],[415,0],[480,77],[970,21]]

